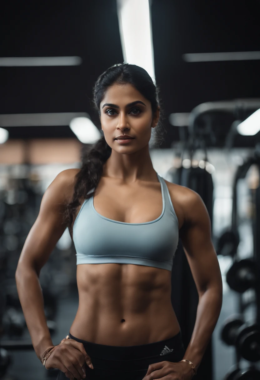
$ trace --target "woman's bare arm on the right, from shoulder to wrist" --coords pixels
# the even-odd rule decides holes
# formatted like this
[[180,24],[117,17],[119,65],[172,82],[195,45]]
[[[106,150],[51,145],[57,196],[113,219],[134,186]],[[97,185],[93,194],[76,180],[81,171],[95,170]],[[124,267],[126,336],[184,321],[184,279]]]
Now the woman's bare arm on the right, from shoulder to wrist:
[[184,224],[180,238],[198,291],[199,302],[192,337],[184,359],[197,367],[216,326],[222,306],[222,277],[211,241],[211,221],[200,195],[185,188]]

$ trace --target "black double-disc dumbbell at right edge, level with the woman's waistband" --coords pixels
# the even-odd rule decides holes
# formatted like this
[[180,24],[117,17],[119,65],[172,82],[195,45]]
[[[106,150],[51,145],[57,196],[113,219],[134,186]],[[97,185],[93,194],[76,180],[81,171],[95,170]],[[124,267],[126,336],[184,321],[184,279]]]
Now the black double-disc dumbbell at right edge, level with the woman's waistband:
[[223,342],[235,346],[246,360],[260,360],[260,328],[256,323],[244,323],[242,315],[232,315],[224,321],[220,332]]

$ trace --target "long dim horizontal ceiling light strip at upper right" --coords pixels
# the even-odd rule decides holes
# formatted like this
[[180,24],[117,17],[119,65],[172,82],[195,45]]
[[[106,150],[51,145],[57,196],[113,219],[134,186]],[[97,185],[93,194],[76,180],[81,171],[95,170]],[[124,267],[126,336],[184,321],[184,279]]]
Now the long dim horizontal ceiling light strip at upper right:
[[186,62],[247,61],[260,59],[260,51],[234,51],[224,53],[187,53],[182,58]]

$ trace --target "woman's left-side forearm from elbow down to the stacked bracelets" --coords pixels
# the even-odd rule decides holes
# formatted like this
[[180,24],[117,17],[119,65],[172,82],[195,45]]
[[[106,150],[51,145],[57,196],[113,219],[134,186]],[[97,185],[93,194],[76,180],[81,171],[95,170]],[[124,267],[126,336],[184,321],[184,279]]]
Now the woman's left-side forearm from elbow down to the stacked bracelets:
[[36,355],[41,359],[44,351],[52,346],[51,334],[44,313],[43,293],[33,268],[17,267],[16,286],[24,318]]

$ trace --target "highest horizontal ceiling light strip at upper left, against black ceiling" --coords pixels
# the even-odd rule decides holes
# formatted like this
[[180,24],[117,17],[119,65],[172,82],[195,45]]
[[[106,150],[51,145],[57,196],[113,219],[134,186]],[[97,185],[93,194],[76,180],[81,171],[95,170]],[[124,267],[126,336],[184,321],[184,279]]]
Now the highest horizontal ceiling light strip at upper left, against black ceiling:
[[0,66],[78,66],[81,57],[2,57]]

